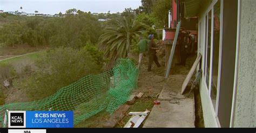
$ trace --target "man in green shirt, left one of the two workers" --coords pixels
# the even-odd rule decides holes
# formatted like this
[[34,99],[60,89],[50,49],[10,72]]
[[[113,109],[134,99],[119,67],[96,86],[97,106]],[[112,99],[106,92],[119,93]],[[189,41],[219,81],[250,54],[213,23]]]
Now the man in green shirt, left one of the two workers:
[[140,68],[140,65],[142,64],[142,59],[146,56],[147,53],[147,39],[139,38],[139,63],[138,68]]

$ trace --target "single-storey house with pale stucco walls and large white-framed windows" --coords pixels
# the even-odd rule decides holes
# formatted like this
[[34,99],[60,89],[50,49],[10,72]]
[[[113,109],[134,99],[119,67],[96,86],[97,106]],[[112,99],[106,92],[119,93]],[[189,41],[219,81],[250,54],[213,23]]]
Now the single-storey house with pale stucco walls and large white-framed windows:
[[177,3],[185,18],[198,16],[202,58],[197,69],[202,71],[199,92],[205,127],[255,128],[256,1]]

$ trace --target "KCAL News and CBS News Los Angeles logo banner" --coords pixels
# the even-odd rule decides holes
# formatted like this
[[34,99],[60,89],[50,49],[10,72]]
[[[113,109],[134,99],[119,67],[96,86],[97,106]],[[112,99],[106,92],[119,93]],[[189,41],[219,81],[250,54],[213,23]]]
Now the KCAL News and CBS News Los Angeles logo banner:
[[9,111],[9,128],[73,128],[72,111]]

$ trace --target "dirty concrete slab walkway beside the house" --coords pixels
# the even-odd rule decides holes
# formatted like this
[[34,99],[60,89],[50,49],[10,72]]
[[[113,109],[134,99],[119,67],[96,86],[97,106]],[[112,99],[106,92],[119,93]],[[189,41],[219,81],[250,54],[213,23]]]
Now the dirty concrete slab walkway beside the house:
[[[175,93],[173,90],[178,88],[170,88],[164,86],[158,100],[160,105],[154,105],[149,114],[143,128],[194,128],[194,97],[186,99],[178,99],[179,104],[171,104],[169,93],[176,98],[184,98],[183,95]],[[174,95],[175,94],[175,95]]]

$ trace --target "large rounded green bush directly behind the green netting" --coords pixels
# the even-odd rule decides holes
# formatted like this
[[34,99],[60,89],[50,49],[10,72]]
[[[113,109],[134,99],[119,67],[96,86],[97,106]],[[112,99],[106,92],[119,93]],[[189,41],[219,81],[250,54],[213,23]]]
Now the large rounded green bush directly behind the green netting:
[[22,87],[30,99],[48,97],[86,75],[102,72],[104,60],[99,60],[100,54],[93,57],[91,49],[89,46],[80,50],[60,47],[46,51],[35,62],[35,74],[23,81]]

